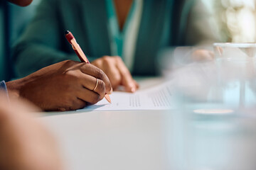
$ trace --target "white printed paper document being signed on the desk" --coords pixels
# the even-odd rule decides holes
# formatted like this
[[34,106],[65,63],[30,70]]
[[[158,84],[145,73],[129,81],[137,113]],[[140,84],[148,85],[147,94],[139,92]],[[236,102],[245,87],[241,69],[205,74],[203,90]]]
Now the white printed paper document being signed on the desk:
[[174,107],[171,82],[137,91],[134,94],[114,91],[110,98],[112,103],[108,103],[103,98],[97,104],[78,111],[168,110]]

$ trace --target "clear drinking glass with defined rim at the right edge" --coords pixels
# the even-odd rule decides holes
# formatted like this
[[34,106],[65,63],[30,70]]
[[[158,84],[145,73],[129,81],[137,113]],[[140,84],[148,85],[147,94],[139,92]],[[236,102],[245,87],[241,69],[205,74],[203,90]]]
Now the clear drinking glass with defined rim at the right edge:
[[256,103],[256,43],[215,43],[218,94],[241,108]]

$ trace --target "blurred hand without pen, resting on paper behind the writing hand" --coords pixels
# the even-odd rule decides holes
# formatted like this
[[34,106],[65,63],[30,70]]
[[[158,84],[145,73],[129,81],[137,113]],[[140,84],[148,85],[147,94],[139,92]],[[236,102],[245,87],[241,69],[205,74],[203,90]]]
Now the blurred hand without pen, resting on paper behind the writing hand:
[[139,88],[139,84],[132,79],[129,69],[127,69],[120,57],[104,56],[93,61],[92,64],[107,74],[113,89],[117,89],[118,86],[124,86],[125,91],[135,92]]

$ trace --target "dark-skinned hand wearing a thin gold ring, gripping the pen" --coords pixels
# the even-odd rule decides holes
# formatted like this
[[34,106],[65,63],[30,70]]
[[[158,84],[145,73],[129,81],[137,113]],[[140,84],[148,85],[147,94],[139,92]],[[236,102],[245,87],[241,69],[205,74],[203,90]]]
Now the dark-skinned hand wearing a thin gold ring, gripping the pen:
[[95,104],[105,94],[112,93],[110,80],[101,69],[71,60],[7,82],[6,86],[16,96],[26,98],[45,111],[76,110]]

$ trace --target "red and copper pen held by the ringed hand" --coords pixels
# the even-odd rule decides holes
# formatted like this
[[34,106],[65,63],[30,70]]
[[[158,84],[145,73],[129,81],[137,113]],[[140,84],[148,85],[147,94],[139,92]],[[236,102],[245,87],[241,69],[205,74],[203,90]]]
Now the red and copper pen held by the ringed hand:
[[[65,31],[65,38],[67,38],[68,42],[70,42],[70,45],[72,45],[73,50],[78,55],[80,61],[81,62],[86,62],[87,64],[90,64],[89,60],[85,56],[85,53],[82,52],[82,49],[81,49],[80,45],[78,45],[78,42],[75,40],[75,37],[73,36],[73,34],[69,30]],[[110,99],[110,96],[108,94],[105,94],[105,98],[109,103],[111,103],[111,99]]]

